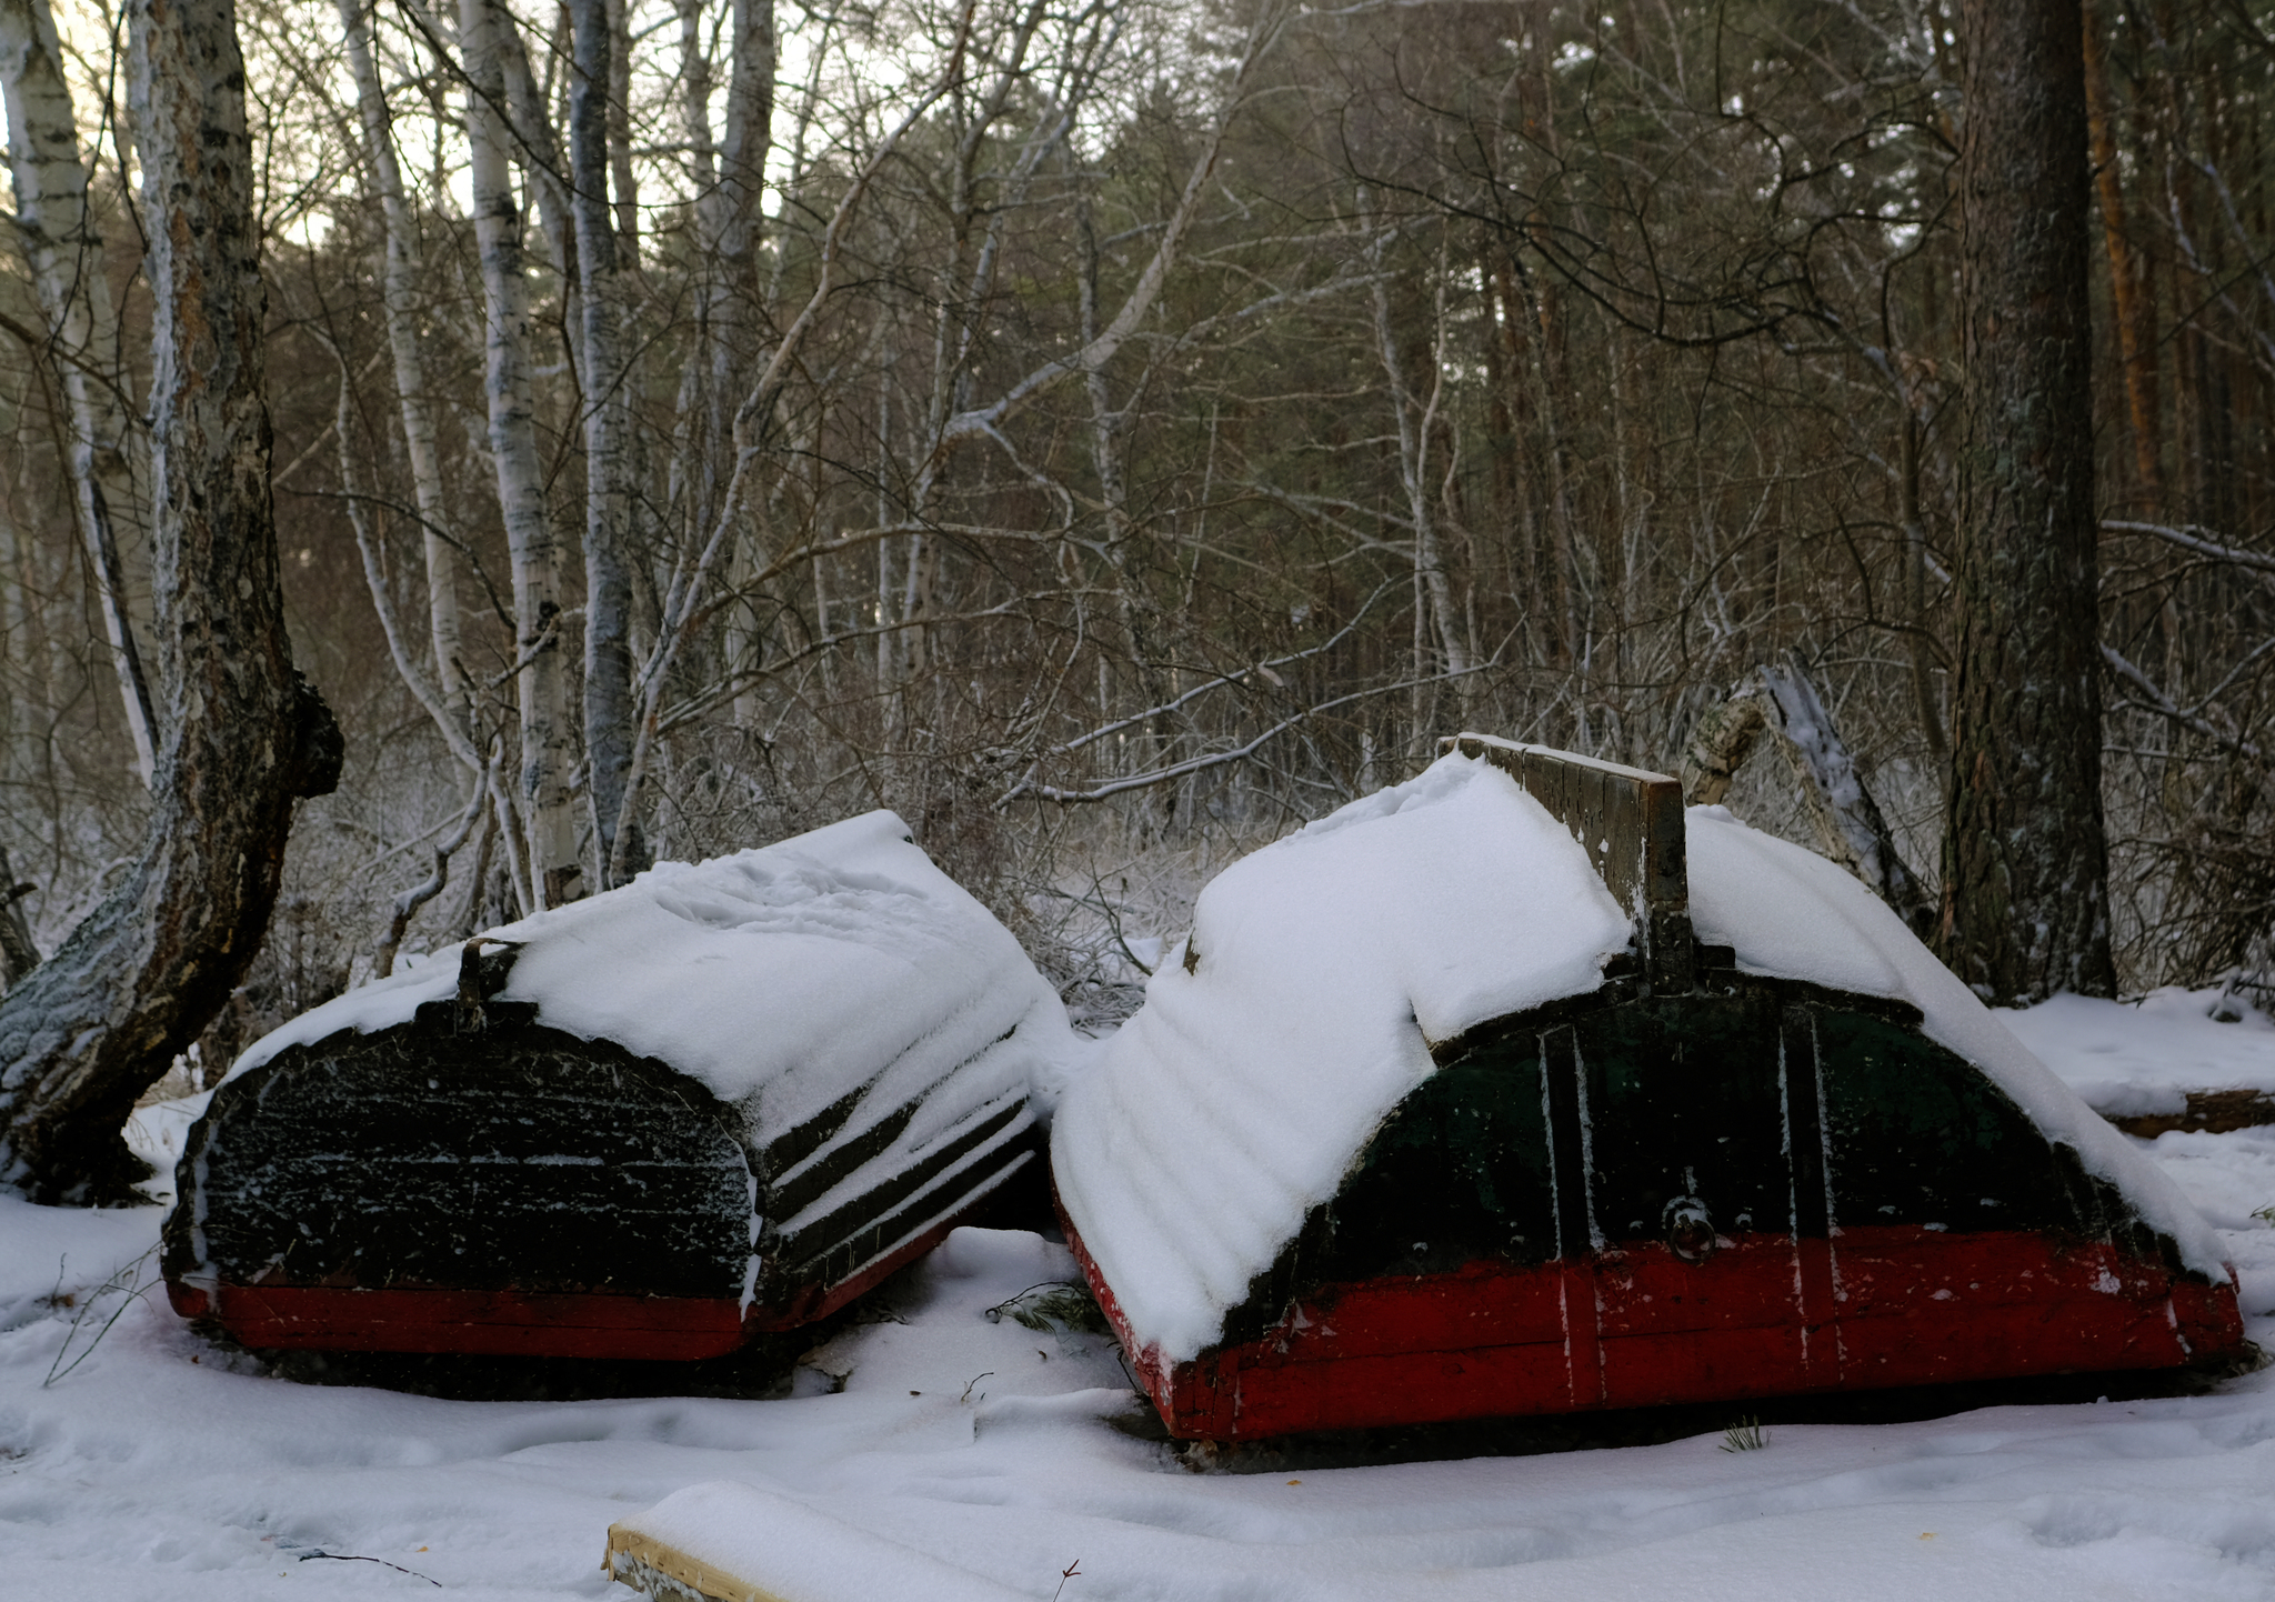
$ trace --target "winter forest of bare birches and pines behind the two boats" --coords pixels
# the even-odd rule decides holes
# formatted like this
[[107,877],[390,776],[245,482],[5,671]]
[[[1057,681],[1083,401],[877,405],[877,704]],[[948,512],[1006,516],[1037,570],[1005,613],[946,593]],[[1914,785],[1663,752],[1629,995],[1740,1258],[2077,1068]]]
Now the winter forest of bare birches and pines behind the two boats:
[[[5,978],[171,994],[127,1101],[878,806],[1112,1022],[1442,735],[1674,771],[1747,683],[1984,994],[2268,983],[2255,0],[2093,0],[2043,82],[1936,0],[239,0],[241,77],[184,9],[0,0]],[[221,168],[207,259],[150,196]],[[273,553],[166,535],[193,451]],[[1970,842],[2034,833],[2077,928],[2013,890],[1975,960]],[[234,924],[152,953],[184,897]]]

